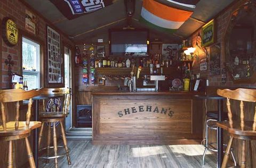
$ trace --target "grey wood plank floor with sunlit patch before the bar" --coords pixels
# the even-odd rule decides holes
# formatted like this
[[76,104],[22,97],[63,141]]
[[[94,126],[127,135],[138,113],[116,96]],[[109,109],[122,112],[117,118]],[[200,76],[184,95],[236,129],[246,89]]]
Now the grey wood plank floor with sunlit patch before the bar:
[[[58,159],[59,167],[217,167],[216,154],[208,152],[202,165],[202,145],[92,145],[91,140],[68,140],[72,165],[66,157]],[[62,152],[62,150],[60,150]],[[54,167],[54,160],[39,167]]]

